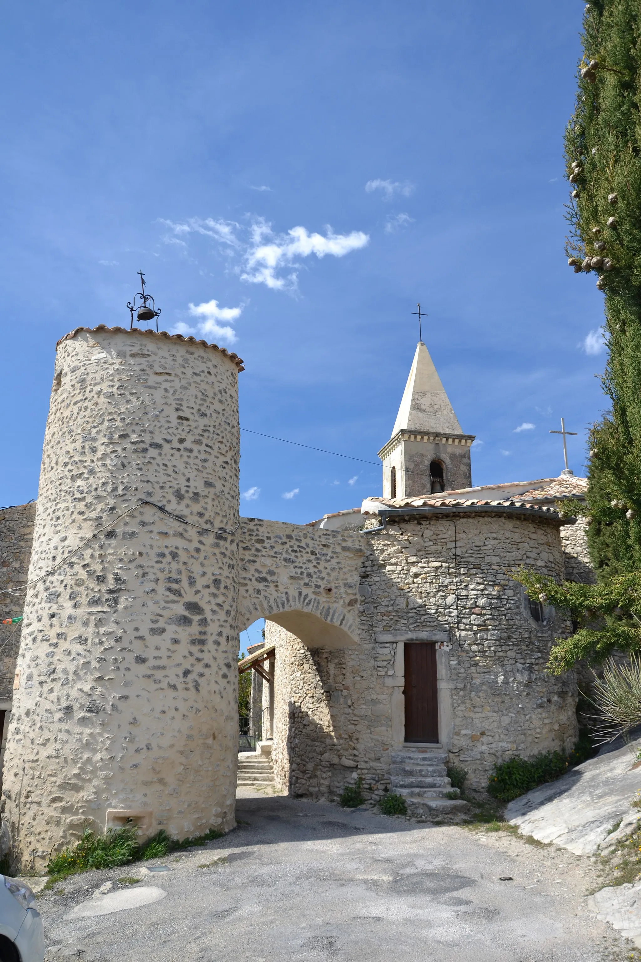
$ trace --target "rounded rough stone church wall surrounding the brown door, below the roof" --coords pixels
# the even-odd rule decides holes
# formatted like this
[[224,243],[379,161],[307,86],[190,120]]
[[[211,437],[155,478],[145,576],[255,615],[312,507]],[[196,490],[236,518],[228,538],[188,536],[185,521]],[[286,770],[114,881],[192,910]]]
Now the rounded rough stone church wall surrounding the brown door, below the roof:
[[471,787],[486,787],[495,762],[574,745],[576,678],[544,671],[570,623],[552,608],[534,620],[507,573],[524,564],[563,577],[554,516],[453,512],[361,537],[369,550],[356,649],[309,649],[267,622],[282,789],[333,797],[361,774],[365,794],[378,797],[389,783],[389,749],[405,738],[404,645],[412,641],[437,645],[440,740]]

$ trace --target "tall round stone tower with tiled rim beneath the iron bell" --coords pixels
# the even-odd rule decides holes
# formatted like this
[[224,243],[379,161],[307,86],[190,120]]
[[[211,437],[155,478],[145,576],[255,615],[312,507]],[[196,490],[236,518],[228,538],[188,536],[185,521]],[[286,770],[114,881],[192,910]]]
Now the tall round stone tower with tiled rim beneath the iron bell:
[[4,770],[23,870],[85,827],[234,825],[242,369],[152,331],[58,344]]

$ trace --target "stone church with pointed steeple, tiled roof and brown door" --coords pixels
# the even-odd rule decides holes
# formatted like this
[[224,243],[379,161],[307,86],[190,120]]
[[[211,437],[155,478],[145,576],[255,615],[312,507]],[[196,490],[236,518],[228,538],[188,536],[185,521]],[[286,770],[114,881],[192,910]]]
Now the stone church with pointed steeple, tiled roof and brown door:
[[576,678],[545,673],[553,640],[572,625],[509,571],[592,580],[583,522],[555,511],[559,499],[583,498],[586,480],[565,470],[444,492],[451,479],[469,485],[473,440],[419,343],[380,452],[386,496],[312,524],[366,519],[357,646],[331,652],[266,622],[274,703],[265,695],[264,708],[281,790],[335,797],[359,776],[365,795],[391,788],[438,810],[452,806],[444,763],[482,789],[510,755],[574,745]]

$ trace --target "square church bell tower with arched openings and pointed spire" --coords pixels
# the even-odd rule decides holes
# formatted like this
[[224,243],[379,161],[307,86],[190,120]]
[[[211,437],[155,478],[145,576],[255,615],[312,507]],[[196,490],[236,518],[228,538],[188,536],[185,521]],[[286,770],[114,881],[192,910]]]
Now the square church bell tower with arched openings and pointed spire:
[[425,343],[419,341],[392,436],[379,451],[382,496],[420,497],[472,486],[470,447]]

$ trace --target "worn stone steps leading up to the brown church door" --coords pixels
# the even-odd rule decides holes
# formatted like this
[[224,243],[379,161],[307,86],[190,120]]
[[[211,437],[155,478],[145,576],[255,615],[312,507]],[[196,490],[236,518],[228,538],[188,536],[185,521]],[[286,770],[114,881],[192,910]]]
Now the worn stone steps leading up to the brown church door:
[[447,776],[447,752],[440,746],[405,745],[392,752],[392,792],[407,801],[410,815],[462,815],[468,805]]

